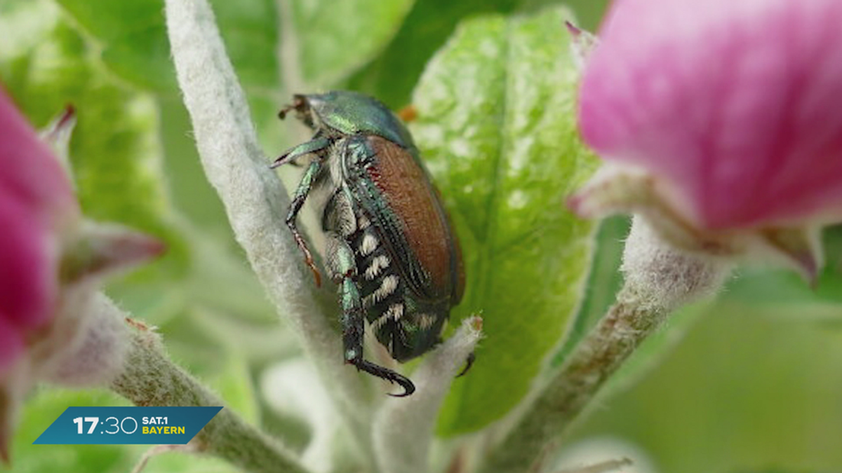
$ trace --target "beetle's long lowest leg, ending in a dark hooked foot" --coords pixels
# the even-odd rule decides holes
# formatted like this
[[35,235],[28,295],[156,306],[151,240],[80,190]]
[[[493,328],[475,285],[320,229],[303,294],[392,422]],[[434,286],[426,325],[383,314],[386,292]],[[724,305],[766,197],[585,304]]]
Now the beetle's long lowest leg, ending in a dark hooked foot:
[[344,348],[345,363],[353,364],[370,375],[397,383],[403,388],[401,394],[390,394],[389,396],[403,397],[415,392],[415,385],[406,376],[400,375],[392,369],[384,368],[373,364],[363,358],[363,339],[365,337],[365,312],[363,310],[360,290],[354,282],[357,276],[357,268],[354,263],[354,250],[340,237],[331,237],[333,242],[330,245],[335,250],[332,265],[335,266],[340,278],[339,300],[342,303],[342,343]]

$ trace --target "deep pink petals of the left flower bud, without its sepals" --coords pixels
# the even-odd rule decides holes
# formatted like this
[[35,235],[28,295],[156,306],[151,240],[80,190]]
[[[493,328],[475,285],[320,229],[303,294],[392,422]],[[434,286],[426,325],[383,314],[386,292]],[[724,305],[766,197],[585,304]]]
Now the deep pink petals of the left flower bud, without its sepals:
[[0,89],[0,374],[50,322],[61,235],[80,214],[51,150]]

